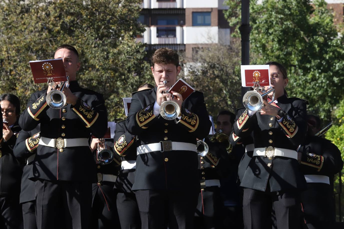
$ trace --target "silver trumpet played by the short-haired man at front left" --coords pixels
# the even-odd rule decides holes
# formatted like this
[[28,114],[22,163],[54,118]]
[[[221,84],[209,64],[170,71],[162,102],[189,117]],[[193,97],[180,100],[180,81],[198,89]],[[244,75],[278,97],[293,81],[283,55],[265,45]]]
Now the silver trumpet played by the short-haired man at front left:
[[[67,76],[67,81],[64,81],[60,85],[55,85],[54,88],[52,79],[48,80],[48,84],[52,87],[52,90],[46,95],[46,103],[53,109],[60,109],[66,103],[66,95],[62,90],[64,87],[69,87],[69,76]],[[60,87],[60,89],[56,90],[57,86]]]

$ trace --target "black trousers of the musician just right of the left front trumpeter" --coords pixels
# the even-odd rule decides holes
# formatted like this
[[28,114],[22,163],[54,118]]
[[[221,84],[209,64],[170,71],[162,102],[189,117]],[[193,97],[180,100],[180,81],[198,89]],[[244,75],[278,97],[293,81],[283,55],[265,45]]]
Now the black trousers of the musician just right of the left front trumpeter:
[[120,229],[114,182],[93,188],[92,229]]

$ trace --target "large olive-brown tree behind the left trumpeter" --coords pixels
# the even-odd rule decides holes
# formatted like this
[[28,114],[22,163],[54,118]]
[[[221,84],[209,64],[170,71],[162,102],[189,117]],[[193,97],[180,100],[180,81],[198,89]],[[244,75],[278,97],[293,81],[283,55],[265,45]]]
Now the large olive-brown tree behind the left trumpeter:
[[71,44],[79,51],[82,87],[103,93],[109,121],[124,117],[121,98],[151,82],[144,45],[135,36],[141,0],[0,0],[1,93],[22,101],[47,88],[35,85],[30,60],[52,59],[55,49]]

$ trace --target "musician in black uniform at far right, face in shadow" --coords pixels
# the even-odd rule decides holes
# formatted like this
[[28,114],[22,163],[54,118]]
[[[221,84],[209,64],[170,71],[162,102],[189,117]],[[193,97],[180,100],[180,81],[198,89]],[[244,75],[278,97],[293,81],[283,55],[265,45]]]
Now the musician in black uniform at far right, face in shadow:
[[333,179],[342,170],[343,160],[337,146],[319,137],[324,134],[319,132],[320,118],[307,115],[307,123],[307,137],[299,150],[302,153],[301,171],[307,182],[307,190],[301,194],[304,220],[309,229],[333,228]]

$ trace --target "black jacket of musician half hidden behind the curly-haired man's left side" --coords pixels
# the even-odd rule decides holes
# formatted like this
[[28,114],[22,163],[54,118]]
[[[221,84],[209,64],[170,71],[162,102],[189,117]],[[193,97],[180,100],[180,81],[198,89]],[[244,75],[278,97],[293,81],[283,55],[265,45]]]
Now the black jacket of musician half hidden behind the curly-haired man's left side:
[[[114,142],[114,149],[122,156],[122,161],[136,161],[136,137],[128,132],[125,120],[116,123]],[[114,187],[117,192],[132,192],[135,174],[136,169],[121,169]]]

